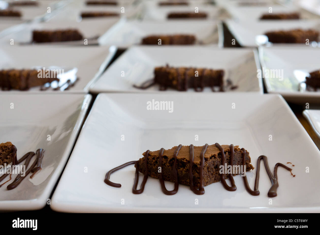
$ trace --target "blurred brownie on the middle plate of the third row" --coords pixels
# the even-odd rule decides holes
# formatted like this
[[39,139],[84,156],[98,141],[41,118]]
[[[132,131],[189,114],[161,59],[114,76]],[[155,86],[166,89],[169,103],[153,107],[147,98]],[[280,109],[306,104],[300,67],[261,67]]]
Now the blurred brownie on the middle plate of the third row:
[[150,35],[142,38],[141,44],[158,44],[159,39],[161,39],[161,45],[189,45],[196,42],[194,35]]

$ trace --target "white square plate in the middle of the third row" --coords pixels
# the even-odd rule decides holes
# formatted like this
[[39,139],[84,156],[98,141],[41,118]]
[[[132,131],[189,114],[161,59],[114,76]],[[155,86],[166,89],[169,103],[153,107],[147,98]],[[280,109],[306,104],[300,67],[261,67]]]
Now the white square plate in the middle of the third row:
[[141,21],[119,20],[98,41],[101,45],[116,45],[127,48],[141,43],[149,35],[191,34],[196,36],[196,43],[222,45],[221,22],[212,20],[168,20]]

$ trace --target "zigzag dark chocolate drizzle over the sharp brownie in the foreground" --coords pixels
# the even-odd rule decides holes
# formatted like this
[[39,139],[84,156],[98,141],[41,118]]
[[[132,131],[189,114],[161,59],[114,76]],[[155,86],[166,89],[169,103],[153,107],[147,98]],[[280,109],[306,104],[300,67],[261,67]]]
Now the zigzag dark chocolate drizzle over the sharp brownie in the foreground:
[[[224,166],[226,164],[226,157],[225,157],[225,153],[224,150],[222,148],[221,145],[219,145],[218,143],[215,143],[215,145],[219,148],[220,153],[221,153],[221,164]],[[161,189],[162,192],[164,192],[164,194],[166,195],[174,195],[178,192],[178,188],[179,188],[179,182],[178,182],[178,170],[177,170],[177,157],[179,154],[179,150],[181,149],[182,145],[179,145],[177,147],[177,149],[174,152],[174,163],[173,163],[173,167],[172,167],[172,176],[174,177],[174,189],[171,191],[168,191],[164,185],[164,179],[163,179],[163,175],[162,175],[162,158],[163,158],[163,153],[164,153],[164,148],[161,148],[159,151],[159,163],[160,163],[160,167],[161,167],[161,171],[159,172],[159,181],[160,181],[160,185],[161,185]],[[194,186],[194,177],[193,177],[193,173],[192,173],[192,168],[193,168],[193,162],[194,162],[194,146],[190,145],[190,169],[189,169],[189,180],[190,180],[190,189],[197,195],[202,195],[204,194],[204,182],[203,182],[203,171],[204,171],[204,153],[206,152],[208,147],[208,144],[205,144],[202,152],[200,154],[200,166],[199,166],[199,175],[200,175],[200,184],[199,184],[199,189],[196,189]],[[230,161],[229,164],[233,166],[233,158],[234,158],[234,146],[230,145]],[[246,150],[244,148],[241,149],[242,151],[242,165],[245,166],[245,156],[246,156]],[[126,166],[135,164],[136,167],[136,172],[135,172],[135,179],[134,179],[134,184],[133,184],[133,188],[132,188],[132,192],[134,194],[140,194],[143,192],[145,184],[147,182],[148,179],[148,156],[149,156],[149,150],[146,151],[145,153],[145,158],[144,158],[144,164],[145,164],[145,172],[144,172],[144,177],[143,177],[143,181],[141,183],[141,187],[139,190],[137,190],[137,185],[139,182],[139,170],[138,170],[138,161],[129,161],[127,163],[122,164],[121,166],[118,166],[116,168],[113,168],[111,170],[109,170],[105,176],[104,182],[110,186],[113,187],[121,187],[121,184],[116,184],[111,182],[110,179],[110,175],[119,170],[122,169]],[[279,186],[278,184],[278,176],[277,176],[277,169],[278,167],[283,167],[284,169],[288,170],[288,171],[292,171],[292,168],[289,168],[287,166],[285,166],[282,163],[276,163],[275,167],[274,167],[274,174],[271,173],[269,165],[268,165],[268,160],[267,157],[264,155],[261,155],[260,157],[258,157],[257,160],[257,170],[256,170],[256,178],[255,178],[255,182],[254,182],[254,190],[252,190],[249,186],[249,182],[247,179],[247,176],[244,175],[243,176],[243,180],[244,180],[244,186],[247,190],[247,192],[249,192],[251,195],[253,196],[258,196],[260,195],[258,186],[259,186],[259,177],[260,177],[260,161],[263,160],[264,163],[264,167],[267,171],[268,177],[270,179],[271,182],[271,187],[269,189],[268,192],[268,197],[276,197],[277,196],[277,188]],[[292,172],[291,172],[292,174]],[[293,174],[292,174],[293,176]],[[294,175],[295,176],[295,175]],[[231,182],[231,186],[229,186],[225,180],[226,178],[226,174],[222,174],[221,175],[221,183],[224,186],[224,188],[228,191],[236,191],[236,184],[235,181],[233,179],[233,175],[230,173],[228,174],[229,180]]]

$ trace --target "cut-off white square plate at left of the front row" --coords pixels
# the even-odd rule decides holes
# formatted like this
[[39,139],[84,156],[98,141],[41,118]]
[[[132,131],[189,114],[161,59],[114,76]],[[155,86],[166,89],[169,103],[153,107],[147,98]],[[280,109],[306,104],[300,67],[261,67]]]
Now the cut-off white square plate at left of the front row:
[[[7,190],[18,175],[12,174],[12,179],[0,188],[0,210],[40,209],[49,202],[68,160],[91,95],[0,94],[0,100],[0,143],[12,142],[18,159],[30,151],[44,149],[42,170],[32,179],[28,175],[16,188]],[[1,184],[8,179],[9,176]]]

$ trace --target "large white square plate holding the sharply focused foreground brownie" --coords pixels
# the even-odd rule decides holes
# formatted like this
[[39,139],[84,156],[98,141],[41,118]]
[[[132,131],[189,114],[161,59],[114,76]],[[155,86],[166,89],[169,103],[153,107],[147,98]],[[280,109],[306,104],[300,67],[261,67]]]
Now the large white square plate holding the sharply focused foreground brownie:
[[[171,106],[148,109],[149,101],[168,101]],[[292,162],[296,176],[278,169],[278,195],[272,201],[267,196],[271,183],[263,163],[259,196],[246,192],[241,176],[234,177],[234,192],[217,182],[204,187],[204,195],[196,195],[180,184],[172,196],[165,195],[159,180],[149,176],[144,192],[133,194],[133,165],[111,175],[110,180],[122,184],[121,188],[104,183],[107,171],[138,160],[147,149],[216,142],[244,147],[255,168],[262,154],[268,156],[272,171],[277,162],[289,167],[287,162]],[[319,150],[279,95],[100,93],[53,194],[51,208],[61,212],[319,212],[320,188],[315,186],[319,164]],[[139,175],[141,182],[143,175]],[[256,170],[246,175],[253,187]],[[173,183],[165,184],[173,189]]]

